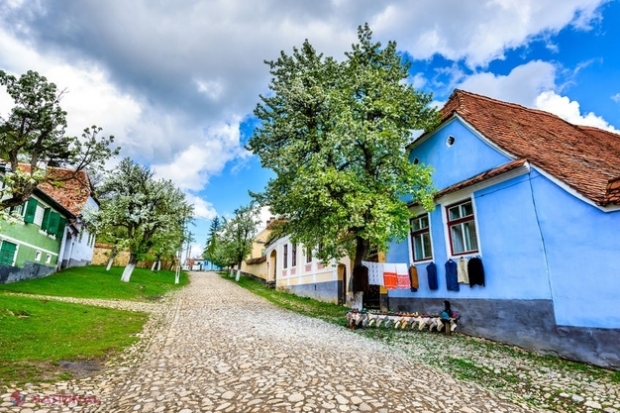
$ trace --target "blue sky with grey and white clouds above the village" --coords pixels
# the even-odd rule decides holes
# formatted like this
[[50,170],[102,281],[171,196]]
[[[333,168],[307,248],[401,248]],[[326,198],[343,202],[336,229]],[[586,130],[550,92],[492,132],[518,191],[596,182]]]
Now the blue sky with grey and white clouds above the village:
[[185,191],[195,256],[273,176],[244,147],[264,61],[306,39],[342,59],[366,22],[437,106],[460,88],[620,130],[620,0],[0,0],[0,69],[66,90],[67,132],[114,135],[110,167],[131,157]]

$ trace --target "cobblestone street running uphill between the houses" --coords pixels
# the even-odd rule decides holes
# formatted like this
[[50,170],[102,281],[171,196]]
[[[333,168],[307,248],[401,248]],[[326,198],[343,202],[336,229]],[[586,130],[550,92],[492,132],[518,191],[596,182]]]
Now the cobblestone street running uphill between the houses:
[[[142,340],[102,374],[9,389],[0,412],[535,411],[213,273],[191,279],[165,302],[141,307],[153,312]],[[21,407],[9,400],[14,390],[25,397]],[[58,394],[76,399],[63,405]]]

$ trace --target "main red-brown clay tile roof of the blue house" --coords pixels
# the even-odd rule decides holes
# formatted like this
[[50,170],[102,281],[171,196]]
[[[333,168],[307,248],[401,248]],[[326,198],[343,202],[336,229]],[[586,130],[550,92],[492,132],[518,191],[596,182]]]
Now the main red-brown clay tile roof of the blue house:
[[527,159],[595,203],[619,203],[620,135],[459,89],[442,108],[442,120],[455,113],[515,158]]

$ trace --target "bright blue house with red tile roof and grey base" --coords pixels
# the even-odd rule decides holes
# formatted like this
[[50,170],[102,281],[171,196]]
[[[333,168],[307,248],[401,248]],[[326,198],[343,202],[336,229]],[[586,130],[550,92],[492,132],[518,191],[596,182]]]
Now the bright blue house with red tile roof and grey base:
[[[449,300],[465,334],[620,367],[620,135],[462,90],[441,114],[409,147],[434,169],[436,208],[411,205],[387,255],[419,288],[389,291],[390,309]],[[453,278],[472,258],[483,277]]]

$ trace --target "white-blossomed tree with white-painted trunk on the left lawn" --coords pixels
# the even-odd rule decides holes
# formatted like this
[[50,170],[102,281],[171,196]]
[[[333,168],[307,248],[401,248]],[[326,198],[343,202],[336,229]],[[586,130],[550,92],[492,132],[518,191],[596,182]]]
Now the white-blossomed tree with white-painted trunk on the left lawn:
[[162,237],[174,237],[181,247],[193,207],[171,181],[155,180],[148,168],[125,158],[105,178],[97,195],[101,209],[90,211],[85,220],[104,239],[129,249],[122,281],[129,281],[138,260],[161,246]]

